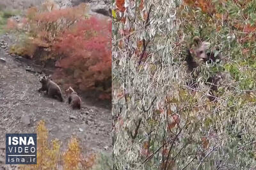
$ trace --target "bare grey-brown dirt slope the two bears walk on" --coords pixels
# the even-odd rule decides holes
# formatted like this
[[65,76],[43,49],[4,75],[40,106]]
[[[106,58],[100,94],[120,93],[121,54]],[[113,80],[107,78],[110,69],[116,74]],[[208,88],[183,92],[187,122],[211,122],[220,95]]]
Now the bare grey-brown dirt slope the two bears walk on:
[[[10,38],[0,36],[1,41],[9,43]],[[5,133],[35,132],[40,120],[45,120],[51,139],[63,142],[62,148],[66,148],[71,136],[77,136],[86,149],[84,153],[111,152],[111,110],[86,102],[90,99],[82,99],[81,110],[72,110],[67,96],[65,103],[61,103],[39,93],[38,78],[26,71],[29,64],[8,55],[3,48],[0,48],[0,169],[10,167],[1,166],[5,162]]]

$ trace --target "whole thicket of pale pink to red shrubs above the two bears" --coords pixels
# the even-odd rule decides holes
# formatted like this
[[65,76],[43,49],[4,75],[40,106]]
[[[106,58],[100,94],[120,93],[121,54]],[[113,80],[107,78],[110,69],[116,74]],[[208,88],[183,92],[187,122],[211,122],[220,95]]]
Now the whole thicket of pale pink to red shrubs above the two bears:
[[[8,20],[19,42],[10,53],[40,61],[55,62],[53,78],[79,91],[97,90],[111,97],[111,20],[87,14],[88,6],[59,8],[51,1],[29,8],[17,22]],[[56,80],[58,81],[58,80]]]

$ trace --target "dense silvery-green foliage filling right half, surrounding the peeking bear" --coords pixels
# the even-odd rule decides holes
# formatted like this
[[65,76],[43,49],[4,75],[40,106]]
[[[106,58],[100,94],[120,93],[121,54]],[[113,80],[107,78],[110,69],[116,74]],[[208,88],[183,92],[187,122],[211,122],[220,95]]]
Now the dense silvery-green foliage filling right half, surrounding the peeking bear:
[[[255,169],[254,1],[114,6],[115,169]],[[194,36],[224,57],[202,64],[196,89],[184,65]],[[231,79],[211,102],[204,80],[219,68]]]

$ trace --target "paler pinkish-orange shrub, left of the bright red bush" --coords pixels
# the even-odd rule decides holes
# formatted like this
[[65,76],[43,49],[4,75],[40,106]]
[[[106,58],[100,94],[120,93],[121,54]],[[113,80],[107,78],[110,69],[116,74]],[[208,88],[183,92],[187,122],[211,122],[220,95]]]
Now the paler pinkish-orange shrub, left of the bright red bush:
[[58,34],[78,20],[83,20],[87,11],[86,4],[64,9],[53,6],[52,3],[45,3],[40,10],[30,8],[27,13],[30,34],[35,36],[37,42],[49,43],[49,46],[55,43]]

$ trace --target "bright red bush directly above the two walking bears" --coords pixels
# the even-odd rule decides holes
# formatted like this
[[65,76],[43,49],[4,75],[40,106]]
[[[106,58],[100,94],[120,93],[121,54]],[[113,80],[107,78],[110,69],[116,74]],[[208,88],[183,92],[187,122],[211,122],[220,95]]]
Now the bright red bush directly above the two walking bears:
[[[58,37],[53,48],[65,56],[59,64],[79,89],[95,89],[97,83],[111,80],[111,21],[80,20]],[[110,92],[111,86],[102,90]]]

